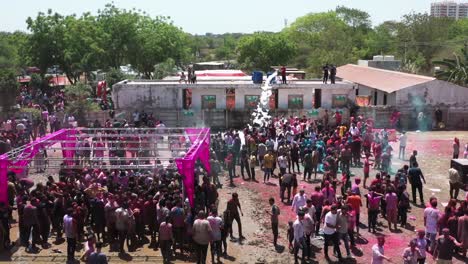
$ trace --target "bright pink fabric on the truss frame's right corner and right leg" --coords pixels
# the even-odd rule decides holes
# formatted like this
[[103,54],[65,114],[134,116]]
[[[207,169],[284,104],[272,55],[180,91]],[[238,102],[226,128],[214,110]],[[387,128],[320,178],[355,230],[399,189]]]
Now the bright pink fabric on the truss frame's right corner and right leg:
[[176,165],[179,169],[180,174],[183,175],[185,193],[189,199],[190,205],[194,205],[195,196],[195,162],[200,159],[202,164],[207,169],[208,173],[211,171],[210,168],[210,129],[209,128],[187,128],[185,129],[187,134],[190,135],[190,141],[192,146],[183,158],[176,159]]

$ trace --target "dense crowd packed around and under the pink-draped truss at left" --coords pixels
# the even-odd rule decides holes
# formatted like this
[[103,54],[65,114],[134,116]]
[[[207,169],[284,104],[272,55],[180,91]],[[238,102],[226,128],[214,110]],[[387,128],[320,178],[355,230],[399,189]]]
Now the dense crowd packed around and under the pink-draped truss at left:
[[[106,126],[163,125],[152,122],[151,115],[145,115],[135,112],[133,124],[106,122]],[[98,122],[94,125],[94,133],[98,133]],[[102,133],[120,133],[120,130]],[[237,194],[232,194],[227,209],[218,215],[218,187],[201,163],[197,163],[194,170],[193,204],[184,195],[182,176],[173,160],[163,165],[155,158],[153,170],[100,169],[101,165],[106,165],[106,160],[104,153],[92,151],[94,147],[104,152],[100,149],[107,146],[105,156],[113,157],[120,151],[122,157],[131,157],[122,159],[121,165],[138,162],[138,154],[132,153],[136,152],[132,151],[132,146],[118,145],[113,140],[128,137],[144,145],[144,138],[128,134],[106,136],[106,140],[97,142],[80,139],[75,160],[82,168],[63,166],[58,180],[49,176],[47,182],[34,185],[9,172],[8,204],[0,203],[0,247],[10,249],[15,245],[10,238],[10,228],[12,212],[16,210],[20,245],[31,253],[37,252],[39,247],[50,248],[52,239],[59,243],[66,239],[69,261],[75,260],[75,251],[83,245],[85,253],[80,259],[89,263],[104,263],[102,247],[109,246],[110,250],[126,254],[145,244],[160,248],[165,263],[170,262],[176,250],[181,255],[194,253],[197,263],[205,263],[208,245],[211,245],[213,263],[215,258],[219,262],[221,257],[226,257],[227,238],[234,238],[232,221],[238,223],[239,240],[244,239],[240,222],[243,212]],[[167,139],[168,142],[173,140],[178,138]]]

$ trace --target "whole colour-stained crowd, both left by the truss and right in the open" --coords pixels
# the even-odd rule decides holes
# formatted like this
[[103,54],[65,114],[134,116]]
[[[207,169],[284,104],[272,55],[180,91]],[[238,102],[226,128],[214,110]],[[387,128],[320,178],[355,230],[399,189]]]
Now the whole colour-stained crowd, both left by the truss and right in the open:
[[[326,259],[330,259],[329,247],[333,247],[332,253],[340,260],[353,258],[352,251],[363,227],[378,237],[378,243],[372,247],[373,263],[391,261],[384,254],[385,237],[378,234],[384,226],[379,219],[385,219],[390,232],[397,232],[399,226],[408,227],[408,211],[418,206],[417,192],[419,202],[426,206],[422,192],[426,179],[419,168],[418,153],[413,151],[409,163],[395,171],[387,130],[375,133],[373,121],[361,116],[351,117],[348,125],[340,112],[332,117],[334,120],[330,122],[328,111],[321,120],[277,117],[263,127],[249,126],[242,131],[231,129],[213,135],[211,170],[208,174],[197,163],[192,205],[184,196],[182,176],[173,162],[165,167],[156,161],[154,170],[106,170],[95,166],[99,163],[83,162],[82,169],[63,168],[58,180],[51,176],[46,183],[35,186],[17,180],[10,173],[9,202],[0,204],[2,246],[12,246],[9,229],[12,210],[16,209],[20,242],[28,252],[36,252],[37,246],[50,247],[52,238],[60,241],[65,237],[69,260],[75,258],[74,252],[82,243],[86,250],[81,259],[90,263],[103,263],[106,259],[101,251],[103,246],[126,254],[125,246],[131,252],[149,243],[152,248],[160,248],[165,262],[170,262],[179,250],[181,254],[195,253],[197,263],[205,263],[209,245],[212,261],[219,262],[227,255],[227,238],[233,238],[234,220],[238,239],[245,239],[237,193],[227,201],[227,209],[218,214],[220,177],[227,174],[233,184],[240,172],[244,180],[259,182],[263,178],[268,188],[274,188],[268,185],[272,178],[278,179],[279,195],[269,199],[271,210],[267,211],[273,244],[277,246],[279,236],[280,209],[276,204],[279,200],[290,205],[296,215],[287,230],[296,263],[312,258],[311,241],[318,237],[325,241]],[[163,125],[144,112],[135,111],[132,118],[133,123],[128,124],[108,120],[104,127]],[[99,129],[99,122],[94,126]],[[407,143],[404,133],[399,141],[399,158],[404,159]],[[99,142],[92,144],[95,143]],[[128,146],[121,146],[125,147]],[[99,158],[103,158],[101,154]],[[123,151],[122,155],[127,154]],[[371,179],[372,167],[379,173]],[[363,177],[353,177],[351,168],[362,168]],[[451,169],[449,176],[459,182],[458,171]],[[314,191],[298,190],[301,180],[313,184]],[[438,263],[450,261],[456,250],[466,254],[467,201],[457,202],[460,188],[451,189],[453,199],[443,213],[437,209],[437,198],[429,199],[424,210],[424,229],[418,230],[417,237],[402,253],[405,263],[424,263],[427,252]],[[363,207],[367,209],[366,225],[360,217]],[[344,245],[346,255],[340,245]]]

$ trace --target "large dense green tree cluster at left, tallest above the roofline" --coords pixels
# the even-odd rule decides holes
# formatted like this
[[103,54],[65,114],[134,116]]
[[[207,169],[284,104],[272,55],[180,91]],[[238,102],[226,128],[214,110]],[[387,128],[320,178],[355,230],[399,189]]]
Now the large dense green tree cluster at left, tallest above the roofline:
[[82,73],[117,69],[131,63],[142,77],[169,58],[185,63],[188,37],[167,17],[152,18],[108,4],[97,16],[62,16],[49,10],[27,19],[28,54],[44,75],[59,66],[72,84]]

